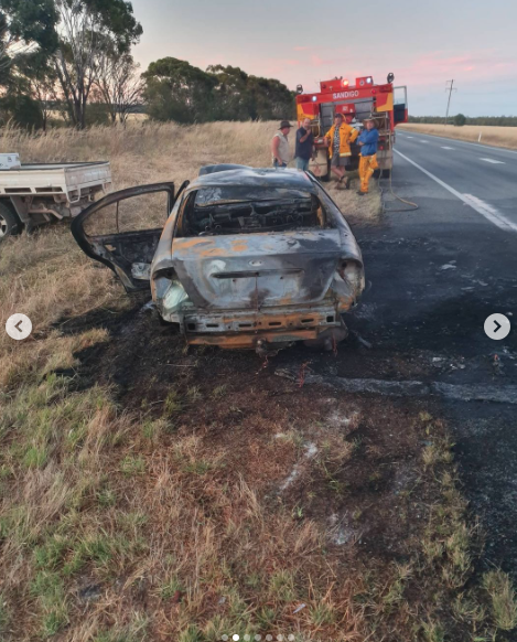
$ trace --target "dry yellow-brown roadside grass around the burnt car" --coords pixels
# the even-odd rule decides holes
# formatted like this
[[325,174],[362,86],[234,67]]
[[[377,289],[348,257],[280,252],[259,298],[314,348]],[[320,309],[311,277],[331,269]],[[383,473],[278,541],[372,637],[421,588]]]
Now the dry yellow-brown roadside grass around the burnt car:
[[[207,162],[268,165],[273,129],[144,125],[42,137],[8,130],[0,138],[24,161],[108,159],[123,188],[192,179]],[[331,190],[353,210],[353,194]],[[374,192],[356,213],[376,216],[378,203]],[[363,448],[347,435],[369,422],[381,438],[387,407],[378,420],[366,402],[343,421],[346,400],[327,418],[297,418],[295,408],[261,393],[260,377],[230,394],[237,374],[212,379],[208,393],[196,381],[168,385],[158,400],[142,396],[140,407],[125,408],[109,385],[83,385],[77,357],[112,338],[101,329],[66,334],[63,324],[128,308],[110,272],[89,261],[63,225],[2,245],[0,277],[0,322],[23,311],[34,324],[23,343],[0,334],[1,640],[211,642],[271,632],[298,642],[412,642],[442,640],[446,630],[455,640],[486,639],[513,624],[505,576],[487,578],[482,591],[491,617],[480,591],[465,592],[473,532],[444,427],[431,416],[407,419],[414,473],[386,517],[388,529],[403,525],[403,560],[380,549],[363,554],[362,524],[384,514],[363,497],[379,501],[383,467],[395,454],[385,456],[381,441]],[[195,363],[206,371],[203,355]],[[185,363],[180,381],[194,376]],[[151,394],[159,383],[140,386]],[[295,384],[293,390],[304,393]],[[233,419],[219,426],[218,441],[220,408]],[[403,435],[406,426],[392,431]],[[429,435],[433,446],[419,446]],[[408,449],[399,457],[407,463]],[[346,479],[359,478],[365,462],[373,472],[354,494]],[[349,512],[349,534],[343,521],[327,518],[333,502]],[[413,532],[416,514],[421,526]],[[336,536],[346,543],[336,545]]]

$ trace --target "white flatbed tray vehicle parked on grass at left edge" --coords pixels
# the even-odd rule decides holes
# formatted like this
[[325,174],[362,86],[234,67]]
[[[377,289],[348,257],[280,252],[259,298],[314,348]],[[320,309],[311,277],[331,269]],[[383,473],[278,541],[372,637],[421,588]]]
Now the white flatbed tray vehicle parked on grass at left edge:
[[[77,216],[111,191],[109,162],[8,163],[0,154],[0,242],[37,225]],[[15,160],[15,159],[14,159]],[[0,158],[2,161],[2,158]]]

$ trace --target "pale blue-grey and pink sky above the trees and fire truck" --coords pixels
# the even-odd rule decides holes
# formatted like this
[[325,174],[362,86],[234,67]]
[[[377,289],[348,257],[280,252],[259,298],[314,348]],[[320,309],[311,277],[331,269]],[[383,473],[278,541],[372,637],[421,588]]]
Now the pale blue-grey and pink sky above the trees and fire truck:
[[142,71],[173,56],[314,90],[343,76],[407,85],[409,113],[517,116],[516,0],[131,0]]

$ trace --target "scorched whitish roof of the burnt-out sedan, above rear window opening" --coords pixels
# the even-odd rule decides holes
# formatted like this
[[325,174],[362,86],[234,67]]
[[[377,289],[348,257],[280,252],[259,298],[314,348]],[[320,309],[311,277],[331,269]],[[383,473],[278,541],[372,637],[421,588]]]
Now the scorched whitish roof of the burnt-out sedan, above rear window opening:
[[317,192],[316,185],[305,174],[298,170],[274,169],[274,168],[239,168],[225,171],[215,171],[202,176],[197,176],[189,185],[189,191],[201,188],[269,188],[301,190],[303,192]]

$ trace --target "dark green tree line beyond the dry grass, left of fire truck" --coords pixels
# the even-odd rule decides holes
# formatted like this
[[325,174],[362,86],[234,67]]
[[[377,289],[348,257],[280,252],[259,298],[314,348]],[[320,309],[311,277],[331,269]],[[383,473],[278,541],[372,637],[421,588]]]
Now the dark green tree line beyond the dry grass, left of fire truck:
[[44,129],[56,111],[78,129],[134,111],[185,124],[292,117],[286,85],[238,67],[164,57],[141,73],[141,34],[126,0],[0,0],[0,125]]

